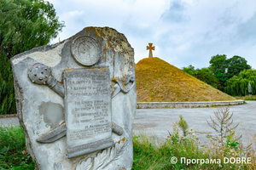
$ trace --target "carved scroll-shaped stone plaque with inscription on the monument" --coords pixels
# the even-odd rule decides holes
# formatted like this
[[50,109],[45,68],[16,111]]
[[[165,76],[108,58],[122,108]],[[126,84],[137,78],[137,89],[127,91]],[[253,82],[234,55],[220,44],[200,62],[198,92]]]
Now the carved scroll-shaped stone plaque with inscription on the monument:
[[113,145],[108,67],[64,71],[67,156]]

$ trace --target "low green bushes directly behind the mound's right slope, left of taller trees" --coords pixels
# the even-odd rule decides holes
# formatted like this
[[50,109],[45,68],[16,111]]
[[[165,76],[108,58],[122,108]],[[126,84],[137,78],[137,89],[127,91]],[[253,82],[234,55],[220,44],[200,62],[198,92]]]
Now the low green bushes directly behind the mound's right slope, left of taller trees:
[[189,65],[188,67],[183,67],[183,71],[201,80],[202,82],[206,82],[207,84],[211,85],[213,88],[223,90],[223,87],[221,86],[218,78],[216,78],[213,72],[208,68],[195,69],[193,65]]

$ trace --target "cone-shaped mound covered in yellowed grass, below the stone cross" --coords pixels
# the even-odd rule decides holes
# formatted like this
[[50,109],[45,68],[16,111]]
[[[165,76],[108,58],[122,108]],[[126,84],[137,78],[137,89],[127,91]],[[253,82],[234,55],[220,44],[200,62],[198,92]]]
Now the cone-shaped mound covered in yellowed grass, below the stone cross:
[[159,58],[135,65],[138,102],[236,100]]

